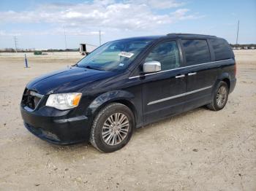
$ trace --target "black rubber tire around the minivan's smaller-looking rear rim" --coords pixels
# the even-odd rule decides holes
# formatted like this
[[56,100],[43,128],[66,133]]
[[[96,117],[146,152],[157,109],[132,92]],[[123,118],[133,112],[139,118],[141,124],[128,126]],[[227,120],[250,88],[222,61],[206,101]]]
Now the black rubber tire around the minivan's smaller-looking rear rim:
[[[218,100],[217,100],[217,96],[220,90],[223,90],[222,88],[225,89],[225,101],[222,100],[221,104],[218,104]],[[219,84],[217,85],[217,88],[214,91],[214,97],[211,101],[210,104],[206,105],[208,107],[208,109],[211,109],[213,111],[219,111],[221,109],[223,109],[225,107],[225,105],[227,104],[227,98],[228,98],[228,93],[229,93],[229,88],[226,82],[221,81],[219,82]]]

